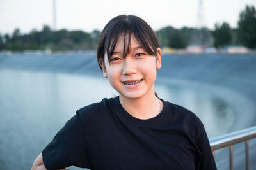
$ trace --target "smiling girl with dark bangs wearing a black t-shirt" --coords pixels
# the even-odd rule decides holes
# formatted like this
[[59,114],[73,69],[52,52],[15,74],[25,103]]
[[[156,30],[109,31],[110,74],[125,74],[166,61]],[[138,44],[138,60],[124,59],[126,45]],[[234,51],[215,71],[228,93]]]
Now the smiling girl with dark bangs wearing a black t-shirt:
[[119,96],[77,110],[32,169],[216,169],[198,117],[154,92],[161,49],[144,20],[110,20],[97,59]]

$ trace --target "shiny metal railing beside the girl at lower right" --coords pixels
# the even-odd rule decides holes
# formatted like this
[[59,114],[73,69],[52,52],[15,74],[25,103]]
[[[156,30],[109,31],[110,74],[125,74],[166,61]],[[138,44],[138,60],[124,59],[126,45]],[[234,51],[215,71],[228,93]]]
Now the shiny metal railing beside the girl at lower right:
[[230,170],[234,169],[233,165],[233,145],[245,141],[245,163],[246,169],[250,169],[250,158],[249,158],[249,139],[256,138],[256,126],[241,131],[232,132],[223,136],[210,139],[210,145],[213,156],[215,158],[215,150],[229,146],[229,167]]

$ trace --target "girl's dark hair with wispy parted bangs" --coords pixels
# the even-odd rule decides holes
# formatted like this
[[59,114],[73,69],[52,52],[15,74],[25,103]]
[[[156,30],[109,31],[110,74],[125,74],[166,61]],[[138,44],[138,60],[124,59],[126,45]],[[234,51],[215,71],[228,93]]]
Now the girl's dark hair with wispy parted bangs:
[[[100,60],[103,62],[102,64],[104,64],[105,54],[107,54],[108,60],[110,60],[110,57],[115,50],[118,38],[121,35],[124,36],[123,57],[126,57],[127,53],[129,53],[131,34],[134,34],[138,43],[149,55],[157,55],[157,47],[159,47],[159,43],[156,33],[152,30],[150,25],[140,17],[134,15],[119,15],[111,19],[100,34],[97,50],[99,66]],[[126,36],[128,36],[128,44],[125,48]],[[102,68],[100,67],[100,69]]]

